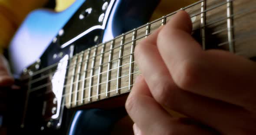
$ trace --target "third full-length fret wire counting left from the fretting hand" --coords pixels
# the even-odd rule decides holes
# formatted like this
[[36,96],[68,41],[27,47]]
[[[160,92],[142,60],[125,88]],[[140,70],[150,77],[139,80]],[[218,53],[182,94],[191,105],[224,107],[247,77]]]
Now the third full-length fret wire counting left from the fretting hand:
[[108,80],[110,80],[110,74],[111,74],[111,71],[110,71],[110,68],[112,67],[112,55],[113,55],[113,51],[112,51],[112,48],[113,48],[113,46],[114,46],[114,44],[115,44],[115,40],[112,40],[112,42],[111,42],[111,45],[110,45],[110,50],[111,51],[109,51],[109,55],[108,55],[108,71],[107,71],[107,83],[106,83],[106,97],[108,97],[109,96],[109,94],[108,94],[108,91],[109,91],[109,88],[110,88],[110,82],[108,82]]

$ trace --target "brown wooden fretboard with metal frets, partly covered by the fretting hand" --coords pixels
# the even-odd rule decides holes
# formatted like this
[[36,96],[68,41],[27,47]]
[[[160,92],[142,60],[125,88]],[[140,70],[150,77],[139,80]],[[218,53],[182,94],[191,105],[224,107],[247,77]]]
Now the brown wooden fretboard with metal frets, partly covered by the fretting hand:
[[[200,0],[181,10],[190,14],[193,32],[199,32],[203,49],[256,56],[256,0]],[[130,92],[140,74],[135,46],[175,13],[74,55],[66,77],[65,106],[72,108]]]

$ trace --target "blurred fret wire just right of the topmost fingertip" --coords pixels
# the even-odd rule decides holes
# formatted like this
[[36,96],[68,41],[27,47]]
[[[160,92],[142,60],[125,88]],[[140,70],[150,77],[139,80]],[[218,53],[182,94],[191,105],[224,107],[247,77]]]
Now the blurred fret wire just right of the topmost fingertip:
[[[206,0],[204,0],[202,3],[201,3],[201,12],[203,12],[204,10],[206,9]],[[200,26],[202,27],[201,28],[201,37],[202,37],[202,48],[203,50],[206,49],[206,46],[205,46],[205,22],[206,22],[206,13],[203,12],[201,13],[201,24]]]

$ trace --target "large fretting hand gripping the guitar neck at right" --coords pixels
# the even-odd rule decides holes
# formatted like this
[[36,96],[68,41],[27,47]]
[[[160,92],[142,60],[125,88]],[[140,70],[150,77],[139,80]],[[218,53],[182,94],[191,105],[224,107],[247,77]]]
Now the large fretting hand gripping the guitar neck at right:
[[[255,135],[256,63],[226,51],[203,51],[191,29],[181,11],[136,46],[142,76],[126,102],[135,134]],[[162,106],[187,118],[174,118]]]

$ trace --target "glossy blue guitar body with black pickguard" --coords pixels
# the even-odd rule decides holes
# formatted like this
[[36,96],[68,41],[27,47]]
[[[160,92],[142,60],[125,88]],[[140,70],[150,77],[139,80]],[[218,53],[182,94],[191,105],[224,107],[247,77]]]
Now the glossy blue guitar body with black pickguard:
[[[141,26],[148,22],[158,3],[159,0],[76,0],[61,13],[35,10],[27,16],[10,44],[13,74],[18,79],[25,72],[43,69],[66,55],[75,55]],[[25,98],[21,99],[26,101],[20,106],[25,109],[21,121],[13,125],[17,130],[11,134],[106,135],[112,124],[125,115],[123,107],[118,109],[122,115],[113,113],[113,109],[61,109],[60,103],[46,102],[56,97],[53,88],[46,89],[29,97],[24,94]],[[46,91],[49,94],[45,96],[42,93]]]

